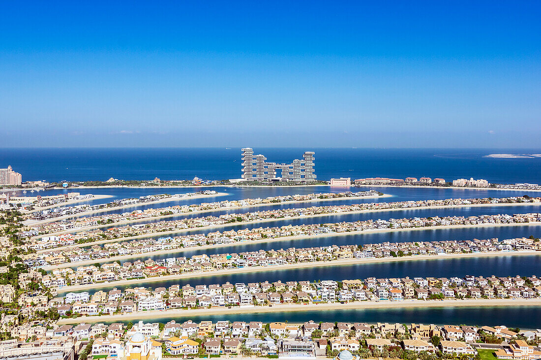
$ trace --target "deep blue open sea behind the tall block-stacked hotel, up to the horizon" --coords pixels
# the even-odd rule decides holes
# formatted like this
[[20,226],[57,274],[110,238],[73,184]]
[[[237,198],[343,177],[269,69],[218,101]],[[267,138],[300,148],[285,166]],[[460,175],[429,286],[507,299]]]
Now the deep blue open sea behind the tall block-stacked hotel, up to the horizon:
[[[247,146],[250,146],[247,144]],[[541,182],[541,158],[492,159],[491,153],[541,153],[541,149],[254,148],[268,161],[288,163],[315,152],[318,179],[384,176],[404,179],[483,178],[489,182]],[[240,148],[0,148],[0,167],[23,180],[82,181],[240,178]]]

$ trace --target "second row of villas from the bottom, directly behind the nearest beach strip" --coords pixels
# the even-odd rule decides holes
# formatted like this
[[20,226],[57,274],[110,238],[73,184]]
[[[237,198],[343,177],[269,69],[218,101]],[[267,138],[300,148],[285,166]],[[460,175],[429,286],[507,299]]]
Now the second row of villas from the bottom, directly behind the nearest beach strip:
[[541,280],[531,277],[489,278],[367,278],[365,280],[322,280],[286,283],[235,283],[157,287],[149,291],[144,287],[69,292],[64,297],[50,300],[62,316],[100,315],[156,311],[169,309],[196,309],[224,306],[266,306],[279,304],[347,303],[355,301],[400,301],[407,299],[495,299],[541,297]]

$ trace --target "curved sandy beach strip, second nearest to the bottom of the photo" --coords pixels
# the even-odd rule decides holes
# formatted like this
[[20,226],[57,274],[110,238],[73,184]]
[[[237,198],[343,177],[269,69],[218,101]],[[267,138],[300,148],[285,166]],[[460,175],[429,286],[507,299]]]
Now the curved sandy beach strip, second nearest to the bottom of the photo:
[[[348,266],[357,264],[378,264],[378,263],[401,263],[404,261],[424,261],[424,260],[447,260],[447,259],[464,259],[464,258],[484,258],[484,257],[509,257],[509,256],[539,256],[541,251],[512,251],[512,252],[479,252],[479,253],[466,253],[466,254],[445,254],[445,255],[416,255],[416,256],[404,256],[397,258],[372,258],[372,259],[344,259],[344,260],[328,260],[328,261],[312,261],[310,263],[297,263],[286,265],[274,265],[274,266],[248,266],[240,267],[236,269],[225,269],[215,271],[199,271],[199,272],[187,272],[181,274],[172,274],[166,276],[156,276],[146,279],[133,279],[133,280],[118,280],[115,282],[87,284],[87,285],[71,285],[64,286],[58,292],[71,292],[71,291],[83,291],[89,289],[101,289],[103,287],[115,287],[126,286],[131,284],[140,285],[141,283],[158,283],[167,280],[180,280],[190,278],[202,278],[212,276],[223,276],[240,273],[255,273],[255,272],[267,272],[267,271],[281,271],[291,269],[305,269],[307,267],[321,267],[321,266]],[[311,279],[299,279],[299,280],[311,280]]]

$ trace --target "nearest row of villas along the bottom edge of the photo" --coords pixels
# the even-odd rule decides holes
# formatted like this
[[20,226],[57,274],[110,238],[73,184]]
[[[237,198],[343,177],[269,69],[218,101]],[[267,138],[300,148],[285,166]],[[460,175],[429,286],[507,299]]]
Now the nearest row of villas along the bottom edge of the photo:
[[[432,358],[465,359],[475,358],[477,349],[483,349],[485,341],[490,339],[490,349],[500,359],[535,360],[541,356],[538,347],[541,330],[516,332],[503,325],[316,323],[313,320],[304,324],[227,320],[177,323],[171,320],[167,324],[139,321],[130,326],[123,323],[45,325],[49,324],[33,324],[36,330],[32,332],[28,331],[31,328],[27,324],[12,326],[10,331],[14,339],[0,342],[0,353],[9,350],[14,354],[16,349],[28,347],[34,352],[47,351],[51,350],[51,343],[58,346],[71,342],[74,346],[92,340],[89,358],[94,359],[278,355],[279,358],[353,360],[422,358],[427,354]],[[40,350],[36,344],[42,344],[46,350]],[[80,352],[81,345],[77,350]]]

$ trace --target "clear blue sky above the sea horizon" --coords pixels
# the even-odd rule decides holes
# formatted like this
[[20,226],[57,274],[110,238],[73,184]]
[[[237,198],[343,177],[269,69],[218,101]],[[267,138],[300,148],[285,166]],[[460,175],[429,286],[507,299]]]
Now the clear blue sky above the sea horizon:
[[0,4],[0,147],[541,135],[536,1]]

